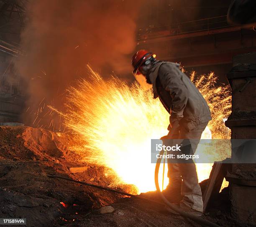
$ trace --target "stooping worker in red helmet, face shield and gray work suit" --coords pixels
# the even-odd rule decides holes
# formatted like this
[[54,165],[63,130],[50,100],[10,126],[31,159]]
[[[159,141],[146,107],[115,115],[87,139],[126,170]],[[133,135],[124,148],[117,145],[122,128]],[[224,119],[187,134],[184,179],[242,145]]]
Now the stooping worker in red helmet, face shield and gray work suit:
[[[136,52],[131,63],[139,84],[145,90],[153,87],[154,98],[159,97],[170,114],[169,133],[161,139],[190,139],[189,152],[193,154],[211,120],[204,97],[177,63],[158,61],[156,55],[146,50]],[[195,163],[168,163],[167,176],[169,185],[164,194],[169,195],[169,201],[177,208],[200,217],[203,202]]]

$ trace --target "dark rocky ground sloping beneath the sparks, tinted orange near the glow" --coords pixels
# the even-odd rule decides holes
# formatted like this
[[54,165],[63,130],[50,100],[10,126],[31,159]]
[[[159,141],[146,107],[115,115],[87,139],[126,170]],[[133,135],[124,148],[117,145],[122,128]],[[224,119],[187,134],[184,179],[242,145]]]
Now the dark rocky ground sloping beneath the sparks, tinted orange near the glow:
[[[67,149],[72,137],[31,127],[0,127],[0,218],[26,218],[28,227],[195,227],[164,207],[47,174],[109,186],[105,168],[79,161]],[[69,168],[87,166],[72,173]],[[131,185],[116,190],[130,193]],[[101,207],[111,205],[111,207]],[[104,213],[104,214],[102,214]],[[203,218],[221,226],[238,226],[229,215],[228,188]],[[8,225],[6,225],[8,226]],[[11,225],[10,225],[11,226]],[[24,225],[16,225],[24,226]]]

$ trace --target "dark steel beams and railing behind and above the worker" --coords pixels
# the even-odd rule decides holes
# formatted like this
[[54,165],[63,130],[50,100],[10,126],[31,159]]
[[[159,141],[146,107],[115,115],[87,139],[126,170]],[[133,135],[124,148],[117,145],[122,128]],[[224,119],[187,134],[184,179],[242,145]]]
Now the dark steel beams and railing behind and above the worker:
[[[230,0],[148,3],[138,20],[138,49],[149,49],[159,59],[179,62],[189,72],[214,71],[220,82],[237,54],[256,51],[253,27],[230,25]],[[154,7],[152,7],[154,5]]]

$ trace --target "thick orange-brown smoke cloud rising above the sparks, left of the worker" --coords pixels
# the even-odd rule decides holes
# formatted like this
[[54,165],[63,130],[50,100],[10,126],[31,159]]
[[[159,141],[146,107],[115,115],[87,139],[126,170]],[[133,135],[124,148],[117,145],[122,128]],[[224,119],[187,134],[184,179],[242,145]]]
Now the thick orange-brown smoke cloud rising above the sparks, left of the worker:
[[61,94],[67,86],[74,79],[87,76],[87,63],[102,75],[131,72],[130,55],[136,47],[139,8],[135,0],[28,3],[21,35],[24,55],[15,62],[27,84],[30,109],[25,114],[26,122],[33,122],[35,112],[40,113],[43,104],[60,107]]

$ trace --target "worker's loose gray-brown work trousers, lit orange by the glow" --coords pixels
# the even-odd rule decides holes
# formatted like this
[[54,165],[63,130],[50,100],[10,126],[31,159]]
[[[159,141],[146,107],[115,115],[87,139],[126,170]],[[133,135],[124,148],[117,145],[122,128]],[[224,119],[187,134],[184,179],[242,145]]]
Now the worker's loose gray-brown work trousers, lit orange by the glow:
[[[208,122],[198,125],[190,131],[181,125],[179,134],[176,134],[174,139],[188,139],[187,141],[190,143],[189,153],[194,154],[207,124]],[[171,187],[179,189],[181,185],[181,203],[202,212],[202,192],[198,183],[195,163],[193,161],[190,163],[168,163],[168,177]]]

